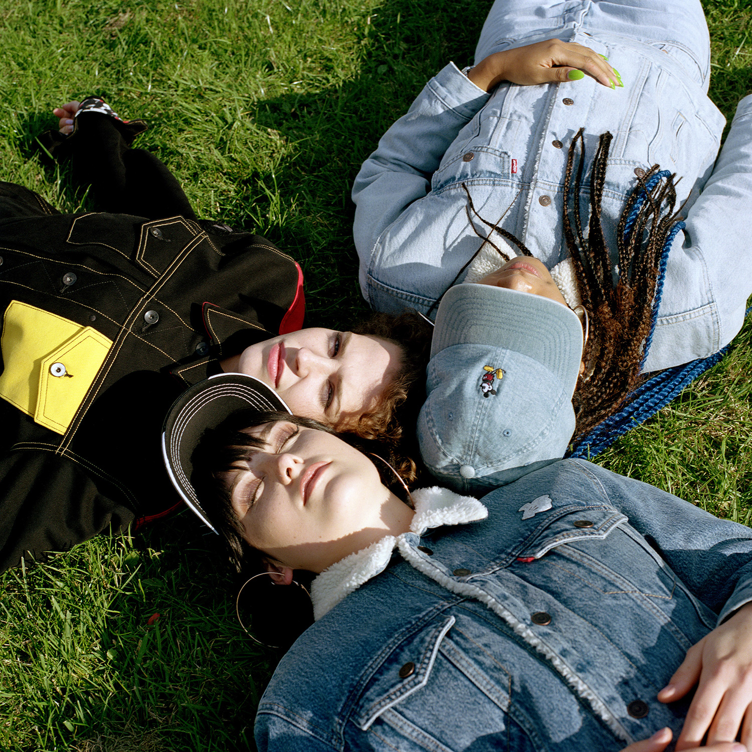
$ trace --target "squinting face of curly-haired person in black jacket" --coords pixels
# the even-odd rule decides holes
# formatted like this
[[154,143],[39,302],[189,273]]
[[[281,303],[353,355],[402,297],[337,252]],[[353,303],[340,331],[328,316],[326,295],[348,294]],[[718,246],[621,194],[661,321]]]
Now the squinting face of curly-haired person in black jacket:
[[296,415],[338,428],[373,410],[402,363],[398,345],[334,329],[301,329],[252,344],[223,361],[277,390]]

